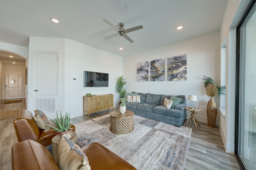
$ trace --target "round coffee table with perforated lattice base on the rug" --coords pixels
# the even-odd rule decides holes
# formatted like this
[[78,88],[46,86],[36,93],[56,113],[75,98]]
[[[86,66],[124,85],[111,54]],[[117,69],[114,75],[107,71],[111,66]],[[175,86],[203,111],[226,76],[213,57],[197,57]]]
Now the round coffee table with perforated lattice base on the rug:
[[126,110],[120,113],[119,110],[110,113],[110,128],[109,130],[117,135],[130,133],[134,129],[133,125],[134,112]]

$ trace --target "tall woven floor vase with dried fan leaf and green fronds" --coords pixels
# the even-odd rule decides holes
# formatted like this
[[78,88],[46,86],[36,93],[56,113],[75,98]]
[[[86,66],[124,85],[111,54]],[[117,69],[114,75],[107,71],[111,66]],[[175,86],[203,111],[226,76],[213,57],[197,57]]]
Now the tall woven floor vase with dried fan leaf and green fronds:
[[204,76],[203,80],[204,87],[206,88],[206,94],[211,97],[207,103],[207,125],[209,127],[215,127],[216,117],[217,117],[217,106],[216,102],[213,100],[213,97],[218,94],[225,94],[226,86],[216,86],[215,82],[210,77]]

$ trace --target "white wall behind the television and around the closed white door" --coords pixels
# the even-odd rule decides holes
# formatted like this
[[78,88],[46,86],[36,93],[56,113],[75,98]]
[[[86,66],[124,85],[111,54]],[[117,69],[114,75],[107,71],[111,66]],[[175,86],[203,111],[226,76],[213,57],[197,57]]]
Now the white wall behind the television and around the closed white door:
[[[118,94],[114,92],[116,78],[122,75],[123,59],[118,55],[83,45],[64,38],[30,37],[29,56],[32,50],[60,51],[60,98],[56,98],[58,111],[70,112],[70,117],[83,114],[83,96],[91,94],[114,94],[114,103],[118,103]],[[32,63],[28,61],[28,75],[31,75]],[[47,69],[47,68],[46,68]],[[104,72],[109,74],[109,87],[84,88],[83,71]],[[73,80],[76,78],[76,80]],[[32,90],[31,78],[28,78],[28,92]],[[71,91],[74,89],[75,91]],[[28,110],[35,109],[35,98],[28,94]],[[60,112],[58,112],[60,113]],[[54,118],[55,114],[47,114]]]

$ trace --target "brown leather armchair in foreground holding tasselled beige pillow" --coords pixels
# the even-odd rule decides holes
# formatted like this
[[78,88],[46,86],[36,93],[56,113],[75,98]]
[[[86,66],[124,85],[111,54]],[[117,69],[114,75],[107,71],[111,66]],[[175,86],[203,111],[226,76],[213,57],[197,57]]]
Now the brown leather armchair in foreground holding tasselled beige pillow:
[[[90,143],[82,148],[91,170],[136,170],[99,143]],[[50,152],[43,145],[26,140],[12,147],[12,170],[59,170]]]

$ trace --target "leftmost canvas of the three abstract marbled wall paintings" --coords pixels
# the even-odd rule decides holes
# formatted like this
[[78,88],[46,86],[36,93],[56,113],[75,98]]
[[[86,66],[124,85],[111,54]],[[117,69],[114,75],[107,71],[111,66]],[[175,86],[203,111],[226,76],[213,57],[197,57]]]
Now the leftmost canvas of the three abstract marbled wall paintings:
[[137,82],[148,81],[149,62],[137,63]]

